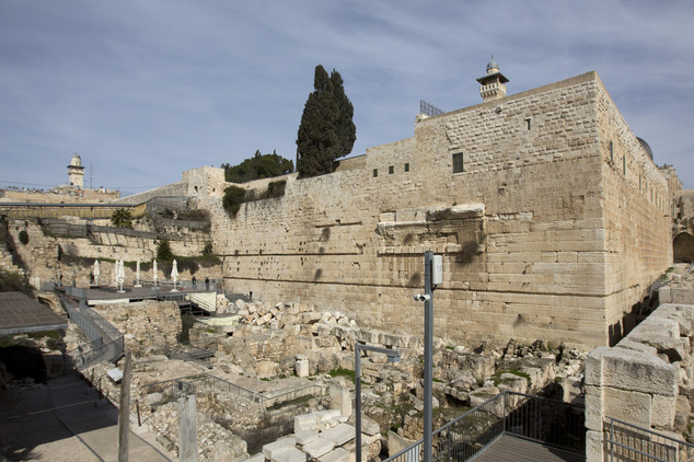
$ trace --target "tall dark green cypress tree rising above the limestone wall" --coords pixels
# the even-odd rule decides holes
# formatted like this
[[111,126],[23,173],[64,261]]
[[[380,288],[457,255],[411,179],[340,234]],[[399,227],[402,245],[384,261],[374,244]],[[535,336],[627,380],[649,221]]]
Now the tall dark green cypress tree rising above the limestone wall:
[[302,177],[331,173],[335,160],[349,154],[357,140],[355,109],[339,72],[333,69],[328,77],[316,66],[313,88],[297,135],[297,171]]

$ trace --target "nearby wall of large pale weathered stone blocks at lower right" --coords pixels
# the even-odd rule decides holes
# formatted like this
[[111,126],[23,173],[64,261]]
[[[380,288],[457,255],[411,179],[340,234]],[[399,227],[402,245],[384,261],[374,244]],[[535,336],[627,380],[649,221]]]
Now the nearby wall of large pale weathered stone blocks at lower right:
[[587,462],[603,461],[603,421],[616,418],[683,440],[692,409],[694,305],[667,303],[614,348],[586,359]]

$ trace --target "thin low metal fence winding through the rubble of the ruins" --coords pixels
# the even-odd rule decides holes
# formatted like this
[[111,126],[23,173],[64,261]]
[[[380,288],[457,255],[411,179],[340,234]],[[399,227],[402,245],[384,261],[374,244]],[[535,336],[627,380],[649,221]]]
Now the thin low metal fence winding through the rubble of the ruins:
[[188,394],[217,391],[234,394],[253,403],[261,404],[265,408],[287,403],[299,397],[319,396],[323,393],[323,388],[321,385],[311,384],[289,390],[280,390],[271,394],[263,394],[207,373],[149,383],[143,385],[142,390],[146,394],[161,393],[160,400],[154,402],[154,405],[169,403]]

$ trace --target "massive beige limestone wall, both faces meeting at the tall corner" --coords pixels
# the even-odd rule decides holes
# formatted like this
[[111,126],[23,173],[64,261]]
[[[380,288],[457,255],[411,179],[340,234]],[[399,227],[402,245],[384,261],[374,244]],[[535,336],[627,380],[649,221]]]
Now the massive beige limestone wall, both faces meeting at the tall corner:
[[608,344],[671,254],[658,201],[608,166],[611,130],[653,190],[667,185],[606,113],[617,114],[589,72],[420,116],[413,138],[329,175],[288,175],[284,197],[246,203],[233,219],[219,197],[206,198],[227,289],[416,333],[423,308],[410,296],[431,250],[444,270],[436,335]]

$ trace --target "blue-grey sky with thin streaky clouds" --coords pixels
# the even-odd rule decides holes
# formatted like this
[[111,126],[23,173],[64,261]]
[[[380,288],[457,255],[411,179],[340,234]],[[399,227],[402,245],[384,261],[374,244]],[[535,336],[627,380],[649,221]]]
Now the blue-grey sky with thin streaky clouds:
[[414,136],[419,101],[482,103],[594,70],[658,165],[694,188],[694,2],[0,0],[0,187],[123,196],[256,150],[294,160],[316,65],[367,148]]

